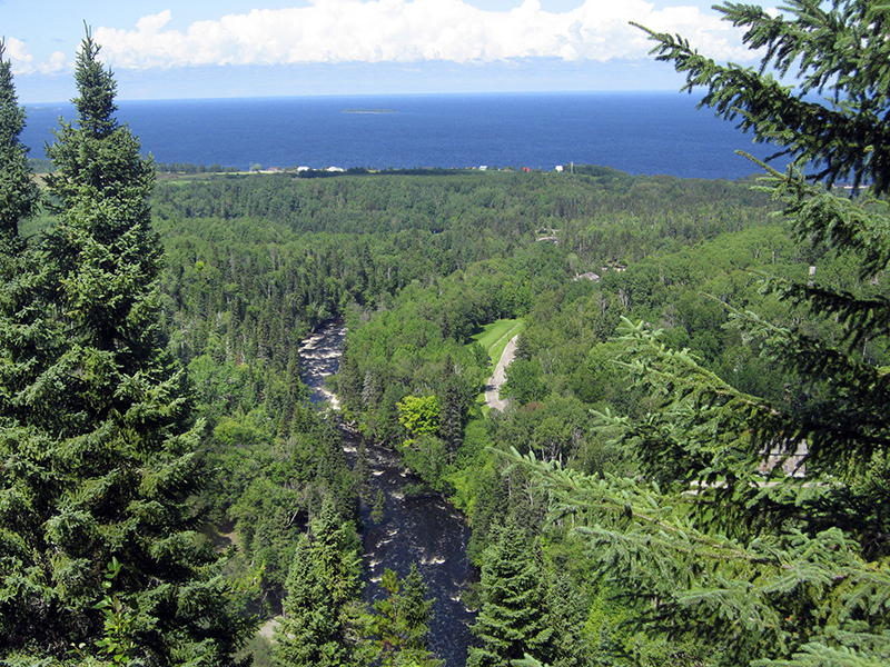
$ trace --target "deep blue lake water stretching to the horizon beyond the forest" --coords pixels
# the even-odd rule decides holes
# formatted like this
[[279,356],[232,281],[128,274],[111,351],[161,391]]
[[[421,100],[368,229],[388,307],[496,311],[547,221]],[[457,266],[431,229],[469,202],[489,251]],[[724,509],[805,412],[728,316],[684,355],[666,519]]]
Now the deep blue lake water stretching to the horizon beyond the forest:
[[[735,155],[771,149],[675,92],[418,94],[120,101],[158,162],[247,169],[307,166],[604,165],[634,175],[734,179],[759,168]],[[360,111],[360,112],[356,112]],[[42,158],[70,104],[27,108],[22,141]]]

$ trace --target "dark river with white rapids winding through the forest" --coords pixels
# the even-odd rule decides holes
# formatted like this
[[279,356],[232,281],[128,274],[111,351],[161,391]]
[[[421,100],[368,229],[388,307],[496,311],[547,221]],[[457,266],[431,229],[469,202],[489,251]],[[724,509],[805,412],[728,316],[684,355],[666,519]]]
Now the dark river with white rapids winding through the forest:
[[[303,381],[312,390],[316,405],[337,407],[336,396],[325,387],[325,378],[337,372],[346,327],[333,320],[319,327],[300,346]],[[342,429],[344,450],[354,464],[358,457],[360,436]],[[464,607],[461,594],[476,576],[466,556],[469,527],[466,519],[441,495],[411,496],[406,487],[421,480],[406,470],[397,454],[365,442],[370,464],[370,497],[385,494],[379,521],[372,518],[372,507],[362,505],[362,540],[365,566],[364,597],[372,601],[382,594],[377,586],[384,569],[405,576],[412,564],[435,598],[429,624],[429,644],[445,660],[445,667],[464,667],[466,650],[473,643],[469,625],[475,615]]]

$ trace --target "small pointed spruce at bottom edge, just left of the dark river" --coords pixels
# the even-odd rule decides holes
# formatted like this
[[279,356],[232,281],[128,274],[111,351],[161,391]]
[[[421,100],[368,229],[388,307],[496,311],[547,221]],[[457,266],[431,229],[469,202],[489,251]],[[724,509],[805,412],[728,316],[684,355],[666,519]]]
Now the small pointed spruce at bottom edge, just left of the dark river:
[[358,537],[335,504],[303,535],[285,584],[284,619],[276,630],[276,657],[286,667],[354,665],[362,564]]

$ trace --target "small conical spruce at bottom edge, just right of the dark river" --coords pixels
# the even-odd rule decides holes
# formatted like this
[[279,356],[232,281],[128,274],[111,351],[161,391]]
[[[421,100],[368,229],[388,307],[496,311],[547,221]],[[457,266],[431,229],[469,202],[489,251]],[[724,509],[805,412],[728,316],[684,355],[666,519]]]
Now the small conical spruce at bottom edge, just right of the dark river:
[[546,658],[548,627],[541,567],[514,520],[500,528],[482,563],[479,615],[473,634],[484,646],[469,649],[471,667],[506,667],[525,654]]

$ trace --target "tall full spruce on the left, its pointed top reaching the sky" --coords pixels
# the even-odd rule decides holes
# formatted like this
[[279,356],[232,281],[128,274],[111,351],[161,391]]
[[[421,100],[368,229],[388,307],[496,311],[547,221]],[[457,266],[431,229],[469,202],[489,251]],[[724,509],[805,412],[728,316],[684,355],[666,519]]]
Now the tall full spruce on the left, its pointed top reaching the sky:
[[0,514],[13,549],[1,561],[0,656],[77,647],[224,665],[247,627],[195,532],[201,425],[158,326],[152,165],[115,119],[115,79],[98,52],[88,32],[77,121],[47,149],[58,220],[39,268],[21,277],[40,306],[26,325],[39,335],[28,359],[6,364],[20,386],[3,375],[3,492],[16,506]]

